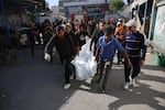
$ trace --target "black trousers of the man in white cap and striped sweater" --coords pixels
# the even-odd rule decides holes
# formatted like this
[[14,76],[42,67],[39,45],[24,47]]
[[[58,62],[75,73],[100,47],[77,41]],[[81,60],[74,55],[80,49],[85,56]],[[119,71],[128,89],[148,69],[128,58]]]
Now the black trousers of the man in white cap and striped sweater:
[[132,67],[128,67],[127,59],[124,62],[124,75],[125,75],[125,82],[130,82],[130,75],[131,78],[135,78],[140,73],[140,57],[130,57],[132,63]]

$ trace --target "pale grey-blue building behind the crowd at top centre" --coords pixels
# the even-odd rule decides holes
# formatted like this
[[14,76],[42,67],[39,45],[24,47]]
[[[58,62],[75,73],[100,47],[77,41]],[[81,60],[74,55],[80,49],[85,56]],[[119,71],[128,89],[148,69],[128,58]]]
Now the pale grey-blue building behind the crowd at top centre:
[[66,18],[74,14],[103,16],[108,13],[110,0],[59,0],[59,12]]

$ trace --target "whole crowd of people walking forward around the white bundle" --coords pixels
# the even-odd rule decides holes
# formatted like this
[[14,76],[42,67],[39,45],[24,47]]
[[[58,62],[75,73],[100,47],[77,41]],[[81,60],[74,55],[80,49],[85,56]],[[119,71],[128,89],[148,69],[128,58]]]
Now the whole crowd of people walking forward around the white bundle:
[[110,19],[109,22],[102,20],[95,22],[92,19],[88,24],[67,21],[61,22],[56,26],[46,25],[43,35],[45,56],[50,55],[50,61],[53,62],[52,52],[53,47],[56,47],[65,68],[64,89],[68,89],[70,76],[75,76],[72,61],[86,44],[86,37],[91,38],[89,50],[94,53],[98,64],[91,84],[100,84],[102,80],[100,90],[106,92],[106,82],[118,50],[118,64],[124,65],[125,85],[123,87],[129,89],[135,82],[146,53],[144,35],[136,26],[135,19],[128,22],[121,19],[117,22],[113,19]]

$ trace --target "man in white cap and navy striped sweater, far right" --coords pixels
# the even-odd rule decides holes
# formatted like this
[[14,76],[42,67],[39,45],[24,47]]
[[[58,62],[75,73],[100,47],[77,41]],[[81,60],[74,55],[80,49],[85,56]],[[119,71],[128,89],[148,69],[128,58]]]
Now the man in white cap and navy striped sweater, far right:
[[129,89],[130,86],[134,85],[134,79],[144,63],[146,45],[144,44],[144,35],[138,31],[138,23],[134,19],[130,20],[125,26],[128,26],[129,32],[125,34],[124,47],[132,63],[131,68],[127,66],[127,61],[124,63],[124,89]]

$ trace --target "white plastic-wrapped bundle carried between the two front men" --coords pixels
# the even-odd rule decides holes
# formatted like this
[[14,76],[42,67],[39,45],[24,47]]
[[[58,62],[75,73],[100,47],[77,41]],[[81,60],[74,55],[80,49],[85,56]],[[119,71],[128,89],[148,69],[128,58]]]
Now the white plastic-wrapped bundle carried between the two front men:
[[90,40],[81,47],[79,55],[77,55],[72,64],[75,66],[76,79],[85,80],[95,76],[97,72],[97,63],[92,52],[89,51]]

